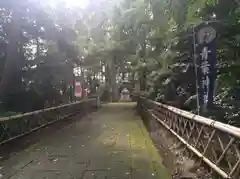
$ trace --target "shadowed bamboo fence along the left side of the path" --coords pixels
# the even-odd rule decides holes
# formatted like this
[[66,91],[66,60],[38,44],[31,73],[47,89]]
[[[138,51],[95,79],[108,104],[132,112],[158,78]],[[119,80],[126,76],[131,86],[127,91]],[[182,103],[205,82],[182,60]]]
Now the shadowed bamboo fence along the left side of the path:
[[84,114],[98,107],[98,98],[0,118],[0,145],[20,138],[76,113]]

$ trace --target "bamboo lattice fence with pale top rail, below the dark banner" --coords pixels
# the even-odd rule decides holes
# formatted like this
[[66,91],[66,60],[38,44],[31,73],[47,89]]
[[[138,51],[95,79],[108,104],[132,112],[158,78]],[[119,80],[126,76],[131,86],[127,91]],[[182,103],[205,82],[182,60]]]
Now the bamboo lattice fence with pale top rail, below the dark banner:
[[[136,96],[135,96],[136,98]],[[148,114],[181,141],[217,178],[240,179],[240,128],[138,97],[140,115]]]

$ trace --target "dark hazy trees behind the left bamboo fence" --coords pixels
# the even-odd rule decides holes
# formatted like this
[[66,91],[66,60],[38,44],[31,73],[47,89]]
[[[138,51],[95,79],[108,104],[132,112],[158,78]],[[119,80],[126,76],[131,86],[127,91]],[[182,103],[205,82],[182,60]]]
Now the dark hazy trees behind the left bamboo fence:
[[31,111],[69,102],[73,29],[64,14],[34,1],[0,4],[0,98],[5,110]]

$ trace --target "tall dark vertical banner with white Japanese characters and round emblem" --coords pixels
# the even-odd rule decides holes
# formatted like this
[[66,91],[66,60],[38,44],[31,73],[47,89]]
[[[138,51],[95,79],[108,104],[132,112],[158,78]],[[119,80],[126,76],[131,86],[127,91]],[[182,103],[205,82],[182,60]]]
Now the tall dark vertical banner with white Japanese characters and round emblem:
[[207,23],[200,24],[194,38],[198,106],[200,112],[206,112],[213,104],[216,80],[216,30]]

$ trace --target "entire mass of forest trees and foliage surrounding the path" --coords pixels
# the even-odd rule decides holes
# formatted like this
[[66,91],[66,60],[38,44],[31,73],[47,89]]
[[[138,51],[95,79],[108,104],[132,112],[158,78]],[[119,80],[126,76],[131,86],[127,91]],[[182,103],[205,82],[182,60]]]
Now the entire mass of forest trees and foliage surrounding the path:
[[0,6],[0,97],[9,109],[32,110],[12,105],[24,99],[34,109],[68,102],[77,66],[91,93],[104,82],[105,98],[117,100],[119,83],[128,79],[139,82],[151,99],[194,111],[192,27],[216,20],[215,106],[205,115],[225,122],[238,118],[237,1],[102,0],[90,1],[86,9],[6,1]]

